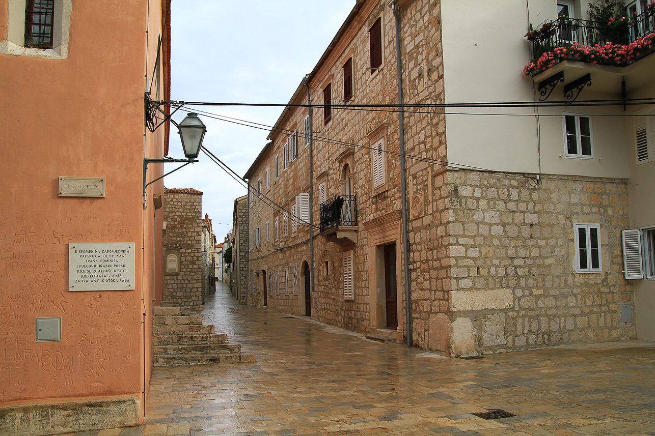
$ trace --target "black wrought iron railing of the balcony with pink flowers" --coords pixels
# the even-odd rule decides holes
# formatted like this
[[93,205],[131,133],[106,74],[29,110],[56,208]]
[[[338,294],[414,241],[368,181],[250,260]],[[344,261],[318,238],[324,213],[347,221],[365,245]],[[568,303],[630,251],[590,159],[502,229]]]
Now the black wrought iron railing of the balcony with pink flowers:
[[[536,59],[544,53],[552,52],[555,48],[570,47],[572,45],[593,47],[612,43],[612,45],[628,46],[640,38],[652,37],[654,31],[655,7],[648,7],[639,15],[612,20],[610,23],[578,20],[563,16],[553,22],[544,23],[541,29],[531,31],[526,36],[533,43],[533,54]],[[591,56],[585,56],[584,53],[578,56],[576,60],[626,66],[650,54],[653,50],[637,51],[639,52],[637,56],[629,56],[626,60],[622,59],[621,62],[617,62],[614,56],[611,58],[603,58],[603,56],[591,58]]]

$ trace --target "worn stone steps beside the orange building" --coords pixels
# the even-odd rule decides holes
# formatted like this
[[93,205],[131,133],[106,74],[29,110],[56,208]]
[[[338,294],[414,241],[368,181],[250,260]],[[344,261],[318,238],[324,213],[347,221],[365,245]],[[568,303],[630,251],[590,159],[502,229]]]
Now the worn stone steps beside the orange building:
[[202,363],[254,362],[241,353],[241,345],[228,342],[225,333],[214,333],[214,325],[188,307],[155,307],[153,316],[153,361],[155,367]]

